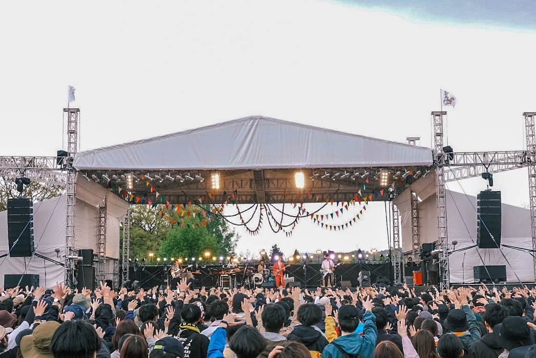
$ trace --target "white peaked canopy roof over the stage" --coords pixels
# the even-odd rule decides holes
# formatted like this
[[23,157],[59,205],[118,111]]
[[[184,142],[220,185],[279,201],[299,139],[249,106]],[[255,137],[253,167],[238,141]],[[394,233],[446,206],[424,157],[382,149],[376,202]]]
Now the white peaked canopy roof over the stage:
[[431,165],[431,149],[251,116],[76,154],[77,170]]

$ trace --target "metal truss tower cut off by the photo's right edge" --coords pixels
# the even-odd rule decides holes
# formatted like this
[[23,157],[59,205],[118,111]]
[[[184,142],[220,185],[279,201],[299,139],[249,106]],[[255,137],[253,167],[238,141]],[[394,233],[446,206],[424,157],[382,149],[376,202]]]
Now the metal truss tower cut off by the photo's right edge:
[[[527,166],[528,166],[528,196],[531,205],[531,233],[532,249],[536,250],[536,138],[534,133],[534,118],[536,112],[524,112],[525,135],[527,141]],[[532,260],[534,272],[536,272],[536,256]],[[534,280],[536,280],[536,273]]]

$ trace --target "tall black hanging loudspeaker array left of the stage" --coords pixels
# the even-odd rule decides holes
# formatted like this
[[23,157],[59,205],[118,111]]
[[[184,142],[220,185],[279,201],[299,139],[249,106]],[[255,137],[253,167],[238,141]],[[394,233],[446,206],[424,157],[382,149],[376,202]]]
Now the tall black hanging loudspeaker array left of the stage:
[[10,257],[34,253],[33,204],[26,198],[8,199],[8,242]]

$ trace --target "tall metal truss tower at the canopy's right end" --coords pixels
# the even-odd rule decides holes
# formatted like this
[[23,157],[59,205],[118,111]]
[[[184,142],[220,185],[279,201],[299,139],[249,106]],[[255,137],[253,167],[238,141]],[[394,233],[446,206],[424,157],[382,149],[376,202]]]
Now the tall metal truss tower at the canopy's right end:
[[431,112],[434,126],[434,162],[436,165],[436,193],[437,193],[437,248],[440,263],[440,289],[448,290],[449,277],[449,239],[446,228],[446,191],[445,191],[445,165],[448,159],[443,151],[443,116],[446,112]]

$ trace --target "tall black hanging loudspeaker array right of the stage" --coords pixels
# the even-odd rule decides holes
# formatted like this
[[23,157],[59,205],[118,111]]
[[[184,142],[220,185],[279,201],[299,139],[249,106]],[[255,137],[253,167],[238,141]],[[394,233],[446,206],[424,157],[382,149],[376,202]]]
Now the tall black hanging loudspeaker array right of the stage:
[[501,192],[483,191],[477,195],[477,245],[496,249],[501,246]]

